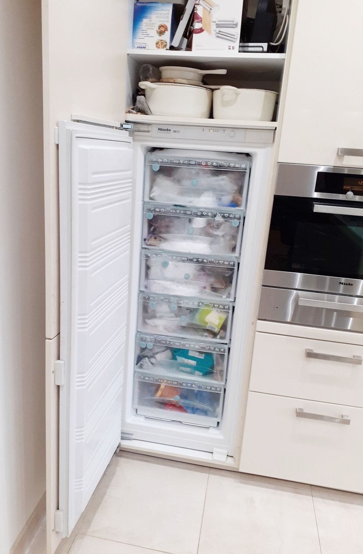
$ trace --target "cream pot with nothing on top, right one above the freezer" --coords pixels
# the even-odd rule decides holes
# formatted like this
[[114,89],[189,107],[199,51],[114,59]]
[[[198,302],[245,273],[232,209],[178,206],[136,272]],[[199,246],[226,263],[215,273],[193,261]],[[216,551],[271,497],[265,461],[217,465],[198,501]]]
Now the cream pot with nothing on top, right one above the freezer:
[[278,93],[272,90],[221,86],[213,93],[214,119],[272,121]]

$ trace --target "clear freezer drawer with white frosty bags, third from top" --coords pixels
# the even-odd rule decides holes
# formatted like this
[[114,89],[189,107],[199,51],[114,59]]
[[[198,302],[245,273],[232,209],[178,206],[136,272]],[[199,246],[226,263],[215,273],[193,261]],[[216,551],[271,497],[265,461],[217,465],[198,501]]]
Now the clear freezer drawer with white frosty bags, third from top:
[[235,258],[198,257],[142,250],[140,289],[157,294],[234,300]]

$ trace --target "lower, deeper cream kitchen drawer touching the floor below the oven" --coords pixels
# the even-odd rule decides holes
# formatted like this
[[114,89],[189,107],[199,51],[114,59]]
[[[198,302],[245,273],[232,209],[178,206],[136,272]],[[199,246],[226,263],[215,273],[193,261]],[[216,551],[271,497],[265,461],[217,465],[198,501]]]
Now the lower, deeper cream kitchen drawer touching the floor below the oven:
[[240,470],[363,493],[362,429],[362,408],[250,392]]

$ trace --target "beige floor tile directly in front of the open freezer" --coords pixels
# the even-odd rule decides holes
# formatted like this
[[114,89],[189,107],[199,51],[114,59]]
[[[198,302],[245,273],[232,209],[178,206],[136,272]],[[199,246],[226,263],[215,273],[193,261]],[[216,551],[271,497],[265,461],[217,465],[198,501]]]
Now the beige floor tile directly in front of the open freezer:
[[80,532],[171,554],[196,554],[208,473],[148,456],[115,456]]

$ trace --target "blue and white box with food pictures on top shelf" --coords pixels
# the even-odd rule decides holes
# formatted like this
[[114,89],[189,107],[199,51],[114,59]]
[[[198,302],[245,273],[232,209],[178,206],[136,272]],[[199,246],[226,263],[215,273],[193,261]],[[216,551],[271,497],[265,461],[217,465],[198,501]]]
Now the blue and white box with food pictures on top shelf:
[[170,47],[175,33],[172,3],[136,2],[133,9],[132,47],[159,50]]

